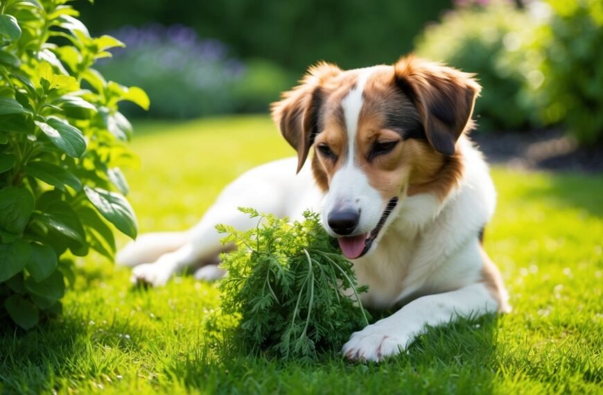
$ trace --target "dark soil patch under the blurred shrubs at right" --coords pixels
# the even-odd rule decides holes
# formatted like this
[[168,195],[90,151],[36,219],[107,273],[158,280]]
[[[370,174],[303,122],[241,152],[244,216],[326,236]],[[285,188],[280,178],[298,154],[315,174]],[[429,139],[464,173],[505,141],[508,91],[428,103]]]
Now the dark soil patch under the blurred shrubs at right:
[[603,148],[579,147],[561,130],[503,134],[476,131],[471,139],[491,164],[529,170],[603,172]]

